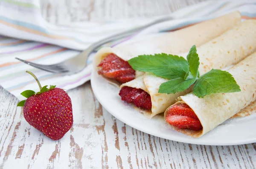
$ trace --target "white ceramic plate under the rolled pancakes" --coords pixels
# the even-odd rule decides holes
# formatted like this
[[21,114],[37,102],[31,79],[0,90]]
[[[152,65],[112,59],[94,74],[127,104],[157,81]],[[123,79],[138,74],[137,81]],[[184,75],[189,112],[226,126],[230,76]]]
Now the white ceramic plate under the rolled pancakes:
[[236,145],[256,142],[256,114],[227,120],[200,138],[192,138],[172,129],[163,116],[151,119],[125,103],[118,95],[119,88],[108,83],[93,71],[93,92],[102,106],[114,117],[142,132],[168,140],[202,145]]

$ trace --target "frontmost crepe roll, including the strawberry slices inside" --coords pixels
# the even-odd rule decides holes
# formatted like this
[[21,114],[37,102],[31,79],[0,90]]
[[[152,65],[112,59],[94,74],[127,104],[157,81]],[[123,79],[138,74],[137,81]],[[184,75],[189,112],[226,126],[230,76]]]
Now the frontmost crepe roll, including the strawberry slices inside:
[[192,137],[201,137],[211,131],[256,100],[255,65],[256,53],[253,53],[227,70],[233,75],[241,92],[217,93],[203,98],[192,92],[180,96],[175,104],[166,109],[166,121],[175,130]]

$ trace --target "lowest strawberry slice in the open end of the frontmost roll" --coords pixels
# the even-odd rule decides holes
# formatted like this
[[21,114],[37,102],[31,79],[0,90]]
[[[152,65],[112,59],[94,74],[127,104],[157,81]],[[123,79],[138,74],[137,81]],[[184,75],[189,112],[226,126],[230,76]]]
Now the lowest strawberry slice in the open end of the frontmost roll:
[[180,129],[192,129],[195,131],[203,129],[199,120],[188,116],[169,115],[166,117],[166,121]]

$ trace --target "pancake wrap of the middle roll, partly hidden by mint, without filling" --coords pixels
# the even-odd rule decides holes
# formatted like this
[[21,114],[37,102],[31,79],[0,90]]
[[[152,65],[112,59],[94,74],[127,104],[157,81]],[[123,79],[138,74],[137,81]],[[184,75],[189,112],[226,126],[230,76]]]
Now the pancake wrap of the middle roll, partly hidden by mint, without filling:
[[[234,65],[254,51],[256,51],[256,20],[246,20],[233,29],[221,34],[221,36],[197,48],[200,58],[199,72],[202,75],[211,69],[223,69]],[[180,55],[186,58],[186,54]],[[142,79],[140,80],[140,83],[144,83],[148,94],[151,96],[151,117],[165,112],[170,105],[175,103],[175,98],[192,91],[191,87],[175,94],[167,95],[158,93],[160,85],[168,80],[154,76],[152,73],[145,73],[143,75],[143,81]],[[137,83],[133,83],[132,80],[122,84],[121,87],[130,86],[138,88],[137,84],[138,81]]]

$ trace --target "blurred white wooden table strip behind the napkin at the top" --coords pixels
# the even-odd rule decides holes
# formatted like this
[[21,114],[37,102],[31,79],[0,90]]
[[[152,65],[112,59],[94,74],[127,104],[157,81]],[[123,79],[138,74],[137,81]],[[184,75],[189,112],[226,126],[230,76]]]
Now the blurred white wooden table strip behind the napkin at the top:
[[119,20],[171,14],[204,0],[42,0],[42,15],[51,23]]

